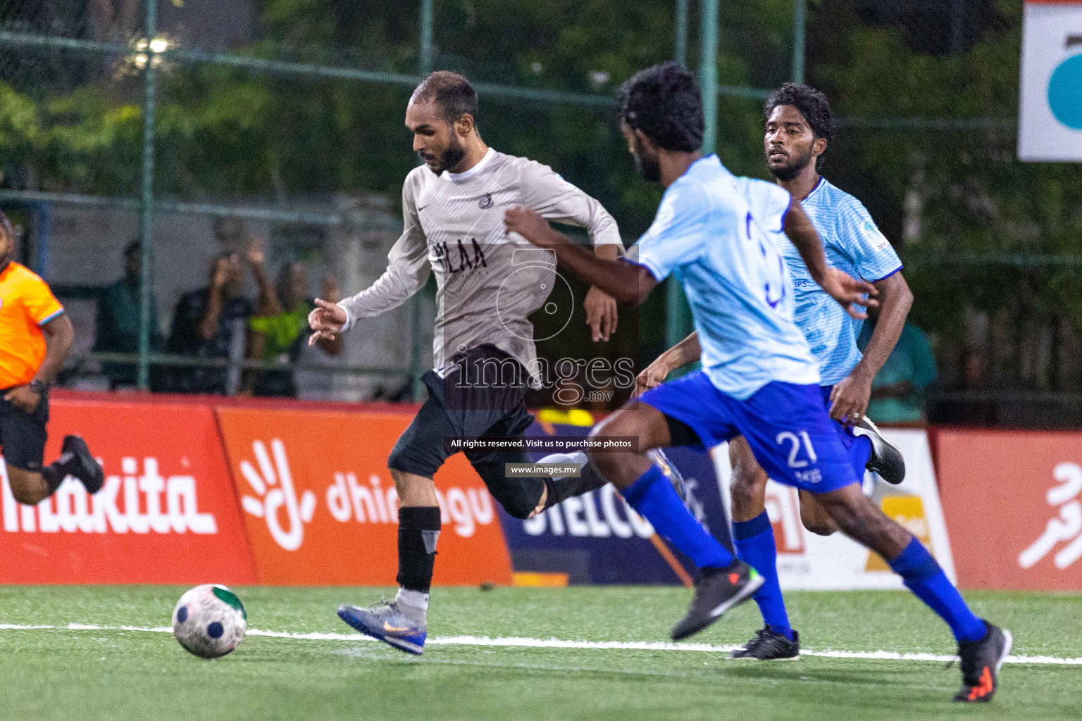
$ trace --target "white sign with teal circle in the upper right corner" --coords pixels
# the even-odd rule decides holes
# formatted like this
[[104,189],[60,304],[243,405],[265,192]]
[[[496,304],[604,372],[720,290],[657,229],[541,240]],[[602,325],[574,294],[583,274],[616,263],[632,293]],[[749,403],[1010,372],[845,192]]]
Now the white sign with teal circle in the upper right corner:
[[1082,161],[1082,0],[1026,3],[1018,158]]

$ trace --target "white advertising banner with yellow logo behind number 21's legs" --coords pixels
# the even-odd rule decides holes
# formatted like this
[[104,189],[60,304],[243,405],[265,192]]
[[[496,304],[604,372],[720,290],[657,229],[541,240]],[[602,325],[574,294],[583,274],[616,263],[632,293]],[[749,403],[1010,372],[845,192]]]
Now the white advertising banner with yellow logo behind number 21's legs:
[[[883,433],[906,457],[906,480],[890,485],[873,473],[867,473],[866,492],[887,516],[920,538],[954,580],[954,560],[947,538],[927,433],[893,428],[883,429]],[[731,477],[728,445],[718,446],[713,456],[722,497],[728,502]],[[807,531],[801,523],[796,489],[769,481],[766,510],[778,545],[778,576],[783,590],[902,588],[901,578],[863,546],[841,533],[818,536]]]

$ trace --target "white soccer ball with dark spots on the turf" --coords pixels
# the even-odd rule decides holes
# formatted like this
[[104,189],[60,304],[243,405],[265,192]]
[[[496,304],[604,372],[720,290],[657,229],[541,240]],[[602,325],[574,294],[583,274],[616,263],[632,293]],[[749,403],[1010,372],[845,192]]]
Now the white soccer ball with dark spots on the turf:
[[173,636],[202,658],[217,658],[236,649],[247,628],[245,605],[217,584],[196,586],[173,609]]

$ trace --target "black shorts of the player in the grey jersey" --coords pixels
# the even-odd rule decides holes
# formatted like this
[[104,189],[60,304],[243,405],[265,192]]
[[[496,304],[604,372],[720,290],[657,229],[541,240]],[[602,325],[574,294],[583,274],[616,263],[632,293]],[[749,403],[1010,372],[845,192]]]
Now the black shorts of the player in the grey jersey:
[[[453,455],[445,449],[444,438],[515,438],[533,423],[526,410],[526,369],[517,360],[486,344],[454,356],[451,362],[456,370],[446,377],[434,371],[421,377],[428,400],[392,449],[388,468],[432,478]],[[526,518],[537,507],[544,480],[506,478],[504,473],[504,464],[530,462],[525,451],[464,453],[489,493],[509,513]]]

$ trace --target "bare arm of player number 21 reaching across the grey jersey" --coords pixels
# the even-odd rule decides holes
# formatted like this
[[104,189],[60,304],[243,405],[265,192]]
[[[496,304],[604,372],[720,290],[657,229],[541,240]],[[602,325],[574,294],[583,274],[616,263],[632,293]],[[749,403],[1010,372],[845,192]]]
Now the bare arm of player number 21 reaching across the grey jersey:
[[562,266],[583,282],[605,291],[620,303],[639,305],[658,281],[643,266],[607,261],[576,246],[549,222],[527,208],[513,208],[504,215],[509,232],[517,232],[538,248],[556,253]]

